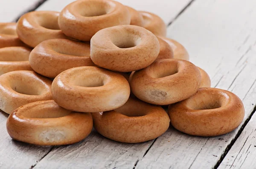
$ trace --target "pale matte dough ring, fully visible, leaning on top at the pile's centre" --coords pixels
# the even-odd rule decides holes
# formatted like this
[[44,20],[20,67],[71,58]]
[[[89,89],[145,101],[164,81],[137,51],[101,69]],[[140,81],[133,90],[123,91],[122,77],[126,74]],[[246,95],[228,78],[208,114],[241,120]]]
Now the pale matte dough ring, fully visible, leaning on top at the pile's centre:
[[119,25],[98,31],[91,39],[91,59],[109,70],[143,69],[157,58],[159,42],[150,31],[135,25]]

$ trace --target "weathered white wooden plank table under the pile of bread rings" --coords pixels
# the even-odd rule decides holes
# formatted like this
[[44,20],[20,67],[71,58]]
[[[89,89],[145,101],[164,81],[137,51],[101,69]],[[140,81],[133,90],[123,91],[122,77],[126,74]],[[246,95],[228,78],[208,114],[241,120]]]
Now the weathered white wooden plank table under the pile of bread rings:
[[[29,10],[60,11],[73,0],[0,0],[0,22]],[[119,0],[158,14],[168,37],[182,43],[190,61],[203,68],[212,87],[236,93],[245,118],[219,137],[186,135],[172,127],[159,138],[122,144],[95,130],[70,146],[34,146],[13,141],[0,113],[0,169],[233,169],[256,168],[256,0]],[[39,6],[39,7],[38,7]],[[38,8],[36,8],[38,7]]]

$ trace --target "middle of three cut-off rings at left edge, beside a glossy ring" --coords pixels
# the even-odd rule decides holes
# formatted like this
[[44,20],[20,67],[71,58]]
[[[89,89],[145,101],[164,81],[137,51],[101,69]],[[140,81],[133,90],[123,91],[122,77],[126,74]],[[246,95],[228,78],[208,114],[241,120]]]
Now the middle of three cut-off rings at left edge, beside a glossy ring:
[[15,70],[32,70],[29,65],[30,51],[25,47],[0,48],[0,75]]

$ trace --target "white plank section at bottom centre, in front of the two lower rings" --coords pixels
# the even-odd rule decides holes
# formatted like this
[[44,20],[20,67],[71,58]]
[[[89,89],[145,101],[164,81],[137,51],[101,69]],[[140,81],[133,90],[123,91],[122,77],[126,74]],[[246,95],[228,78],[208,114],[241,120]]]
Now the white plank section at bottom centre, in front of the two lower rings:
[[53,149],[34,169],[132,169],[151,143],[119,143],[93,130],[78,144]]

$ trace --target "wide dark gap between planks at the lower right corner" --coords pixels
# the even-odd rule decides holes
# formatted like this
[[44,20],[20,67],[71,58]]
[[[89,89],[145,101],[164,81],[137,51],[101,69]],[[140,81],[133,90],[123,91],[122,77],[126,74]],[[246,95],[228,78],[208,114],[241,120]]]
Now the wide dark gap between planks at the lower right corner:
[[234,143],[236,142],[237,138],[239,138],[239,136],[241,135],[241,132],[244,130],[244,127],[248,124],[248,122],[250,121],[250,119],[252,118],[253,114],[256,111],[256,106],[254,106],[253,108],[253,112],[249,115],[249,117],[244,121],[244,124],[242,124],[241,128],[239,129],[239,131],[237,132],[236,136],[233,138],[233,140],[230,142],[230,144],[226,147],[224,153],[221,155],[221,158],[218,160],[218,162],[215,164],[215,166],[213,167],[213,169],[217,169],[218,166],[221,164],[221,162],[223,161],[223,159],[225,158],[225,156],[227,155],[227,153],[229,152],[229,150],[231,149],[231,147],[234,145]]

